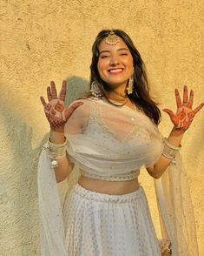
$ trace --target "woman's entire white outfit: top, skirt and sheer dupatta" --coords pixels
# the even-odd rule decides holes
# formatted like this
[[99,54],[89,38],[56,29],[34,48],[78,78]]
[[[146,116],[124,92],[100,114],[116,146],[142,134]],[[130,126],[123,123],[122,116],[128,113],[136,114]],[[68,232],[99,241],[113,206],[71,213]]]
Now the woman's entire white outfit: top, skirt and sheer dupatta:
[[[108,195],[90,192],[73,178],[81,173],[95,179],[134,179],[142,165],[152,166],[160,158],[161,133],[142,112],[116,107],[105,99],[82,101],[65,126],[67,152],[75,169],[69,178],[63,214],[47,152],[40,157],[43,255],[161,255],[142,187],[125,195]],[[194,212],[179,154],[176,164],[169,165],[155,181],[155,188],[161,232],[163,238],[171,240],[173,256],[198,255]]]

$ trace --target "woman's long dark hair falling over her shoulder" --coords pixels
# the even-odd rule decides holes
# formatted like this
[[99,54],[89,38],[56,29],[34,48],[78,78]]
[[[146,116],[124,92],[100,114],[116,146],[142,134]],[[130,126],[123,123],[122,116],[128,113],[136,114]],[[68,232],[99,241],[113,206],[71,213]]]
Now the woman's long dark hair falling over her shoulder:
[[128,98],[135,103],[135,105],[144,111],[144,113],[154,120],[156,125],[159,125],[161,121],[161,111],[156,106],[155,101],[150,98],[149,95],[149,86],[148,86],[148,77],[145,64],[141,59],[139,51],[136,50],[133,41],[128,35],[122,30],[102,30],[99,32],[95,38],[95,43],[92,46],[92,62],[90,65],[90,85],[93,81],[96,81],[99,84],[99,87],[102,91],[104,97],[106,95],[103,91],[107,88],[107,85],[99,75],[97,69],[97,63],[99,58],[98,45],[102,42],[102,39],[109,36],[111,31],[115,32],[115,35],[121,37],[125,44],[128,46],[133,62],[134,62],[134,91],[128,95]]

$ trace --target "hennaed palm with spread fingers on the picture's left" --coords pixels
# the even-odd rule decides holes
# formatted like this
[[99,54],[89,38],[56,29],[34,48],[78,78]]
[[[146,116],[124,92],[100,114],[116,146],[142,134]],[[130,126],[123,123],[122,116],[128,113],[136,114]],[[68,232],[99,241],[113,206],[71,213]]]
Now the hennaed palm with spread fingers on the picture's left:
[[51,131],[63,132],[64,125],[71,117],[73,112],[77,107],[82,105],[82,102],[76,102],[75,104],[71,104],[67,109],[65,106],[65,96],[67,91],[67,81],[63,81],[62,91],[60,93],[59,98],[56,93],[56,84],[51,81],[50,86],[47,87],[47,96],[48,96],[48,104],[41,97],[41,102],[44,107],[45,115],[49,121]]

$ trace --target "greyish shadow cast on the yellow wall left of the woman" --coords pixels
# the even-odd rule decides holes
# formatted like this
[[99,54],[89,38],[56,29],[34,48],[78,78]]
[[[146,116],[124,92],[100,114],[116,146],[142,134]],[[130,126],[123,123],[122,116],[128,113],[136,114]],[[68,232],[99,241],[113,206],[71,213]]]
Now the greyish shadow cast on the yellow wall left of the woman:
[[[89,91],[89,83],[81,77],[68,77],[67,82],[66,106]],[[15,115],[15,110],[8,112],[3,109],[7,105],[3,101],[0,111],[6,131],[3,138],[4,154],[0,161],[3,167],[3,179],[0,179],[0,205],[3,205],[0,233],[3,234],[1,241],[4,246],[0,254],[40,255],[37,162],[49,133],[44,135],[35,149],[32,148],[35,127],[25,124],[22,118]]]

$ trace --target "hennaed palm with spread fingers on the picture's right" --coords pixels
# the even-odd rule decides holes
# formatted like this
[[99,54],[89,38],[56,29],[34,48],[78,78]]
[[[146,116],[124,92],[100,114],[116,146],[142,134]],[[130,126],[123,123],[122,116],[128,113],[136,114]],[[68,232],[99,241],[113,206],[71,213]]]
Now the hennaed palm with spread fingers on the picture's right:
[[177,104],[176,114],[174,114],[174,112],[169,109],[163,109],[163,111],[168,113],[168,116],[171,118],[171,121],[174,124],[174,129],[182,133],[188,130],[188,127],[194,120],[195,114],[201,110],[204,103],[201,103],[193,110],[192,106],[194,103],[194,91],[190,91],[190,97],[188,99],[188,87],[186,85],[183,89],[183,102],[181,102],[181,97],[177,89],[175,89],[174,93]]

